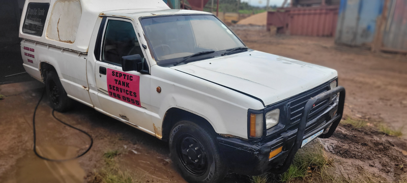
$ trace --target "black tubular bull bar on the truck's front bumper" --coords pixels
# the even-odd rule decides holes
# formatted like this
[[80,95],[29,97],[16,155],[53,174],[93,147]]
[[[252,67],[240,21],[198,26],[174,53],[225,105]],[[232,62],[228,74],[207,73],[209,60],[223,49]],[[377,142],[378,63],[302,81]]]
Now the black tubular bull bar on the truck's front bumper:
[[343,106],[345,104],[345,88],[343,86],[335,87],[327,92],[319,94],[315,97],[312,97],[310,100],[308,100],[308,102],[305,104],[305,107],[304,107],[304,113],[301,117],[301,121],[300,121],[298,131],[297,131],[297,137],[294,142],[294,145],[291,148],[291,150],[289,151],[287,158],[285,159],[283,165],[278,168],[273,168],[271,170],[272,173],[275,173],[275,174],[284,173],[285,171],[288,170],[289,166],[293,162],[294,156],[296,155],[298,149],[300,149],[300,147],[301,147],[301,144],[302,144],[302,141],[304,138],[305,127],[306,127],[307,121],[308,121],[308,115],[309,115],[309,112],[311,111],[313,105],[316,103],[322,102],[328,98],[331,98],[332,96],[334,96],[337,93],[339,93],[339,103],[338,103],[338,110],[337,110],[338,117],[332,123],[331,127],[329,128],[329,131],[325,134],[320,135],[319,138],[329,138],[332,136],[332,134],[335,132],[336,128],[338,127],[339,122],[343,115]]

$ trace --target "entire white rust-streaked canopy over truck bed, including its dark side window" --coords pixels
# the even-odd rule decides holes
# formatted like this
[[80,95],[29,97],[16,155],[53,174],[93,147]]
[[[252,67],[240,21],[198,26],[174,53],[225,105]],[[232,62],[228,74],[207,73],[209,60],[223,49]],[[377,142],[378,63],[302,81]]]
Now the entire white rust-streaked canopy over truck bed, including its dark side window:
[[[136,9],[133,9],[136,8]],[[113,11],[114,10],[114,11]],[[88,53],[89,42],[100,15],[170,10],[162,0],[26,0],[19,37],[64,49]],[[102,13],[104,12],[104,13]],[[147,14],[147,13],[146,13]]]

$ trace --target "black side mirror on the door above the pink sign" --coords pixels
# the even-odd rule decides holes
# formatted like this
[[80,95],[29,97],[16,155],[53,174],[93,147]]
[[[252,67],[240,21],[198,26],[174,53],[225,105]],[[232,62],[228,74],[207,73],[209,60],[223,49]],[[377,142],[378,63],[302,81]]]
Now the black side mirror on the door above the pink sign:
[[[137,71],[141,74],[149,74],[148,65],[140,54],[122,56],[123,71]],[[147,65],[147,66],[146,66]]]

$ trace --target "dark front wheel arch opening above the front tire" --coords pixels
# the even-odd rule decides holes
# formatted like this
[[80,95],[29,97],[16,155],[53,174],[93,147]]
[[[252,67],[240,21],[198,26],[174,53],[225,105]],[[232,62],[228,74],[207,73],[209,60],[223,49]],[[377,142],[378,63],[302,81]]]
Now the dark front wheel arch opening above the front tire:
[[172,127],[181,120],[190,120],[201,127],[209,129],[214,135],[217,135],[211,123],[205,118],[205,116],[201,116],[181,108],[172,107],[165,112],[162,122],[161,140],[168,141]]

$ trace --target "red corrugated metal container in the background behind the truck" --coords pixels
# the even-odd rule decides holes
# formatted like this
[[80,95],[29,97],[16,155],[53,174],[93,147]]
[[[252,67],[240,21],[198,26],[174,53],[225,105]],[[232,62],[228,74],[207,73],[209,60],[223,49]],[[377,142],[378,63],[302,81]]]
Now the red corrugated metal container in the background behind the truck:
[[283,8],[268,12],[267,29],[276,26],[278,33],[301,36],[334,36],[338,19],[337,6]]

